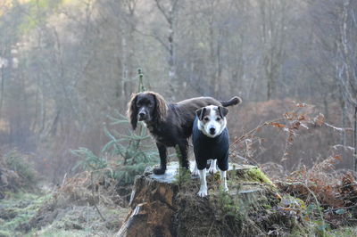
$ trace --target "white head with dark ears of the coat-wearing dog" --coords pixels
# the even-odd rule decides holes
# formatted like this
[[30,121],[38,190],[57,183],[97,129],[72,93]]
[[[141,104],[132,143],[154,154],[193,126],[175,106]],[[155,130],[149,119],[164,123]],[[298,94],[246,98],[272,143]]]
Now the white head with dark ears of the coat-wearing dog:
[[227,126],[228,109],[222,106],[209,105],[195,111],[198,117],[198,129],[208,137],[220,135]]

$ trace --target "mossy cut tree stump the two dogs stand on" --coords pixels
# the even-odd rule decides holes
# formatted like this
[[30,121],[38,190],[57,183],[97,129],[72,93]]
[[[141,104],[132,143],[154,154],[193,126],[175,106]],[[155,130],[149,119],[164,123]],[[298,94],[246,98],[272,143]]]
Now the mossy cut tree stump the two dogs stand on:
[[[194,166],[191,162],[190,167]],[[270,205],[279,201],[274,184],[255,166],[229,164],[228,193],[220,191],[220,172],[208,175],[209,196],[205,198],[196,195],[199,177],[189,176],[178,184],[179,162],[170,162],[162,176],[152,170],[146,168],[143,176],[136,177],[129,214],[116,236],[229,235],[219,228],[220,224],[227,225],[229,215],[234,225],[241,225],[236,219],[239,222],[239,215],[252,206],[250,203]]]

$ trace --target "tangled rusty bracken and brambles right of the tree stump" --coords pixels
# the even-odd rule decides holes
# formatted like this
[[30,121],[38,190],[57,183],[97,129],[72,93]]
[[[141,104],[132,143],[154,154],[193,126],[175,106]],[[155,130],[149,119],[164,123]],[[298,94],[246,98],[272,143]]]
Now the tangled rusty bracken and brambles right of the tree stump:
[[[357,182],[356,174],[352,171],[335,170],[335,164],[342,156],[335,153],[336,147],[342,147],[350,151],[350,147],[341,144],[332,146],[331,155],[320,162],[315,162],[311,168],[300,165],[295,171],[288,174],[286,160],[291,159],[289,148],[298,139],[301,130],[308,133],[309,130],[328,127],[333,132],[344,134],[351,131],[348,127],[335,127],[325,121],[320,112],[313,110],[314,106],[305,103],[296,103],[295,109],[286,112],[282,118],[266,121],[253,128],[245,135],[237,137],[230,146],[233,160],[245,160],[248,163],[260,166],[254,159],[254,154],[263,151],[262,138],[258,133],[263,127],[276,127],[279,132],[286,134],[281,161],[279,164],[269,162],[262,165],[264,171],[274,176],[275,183],[282,193],[302,200],[299,208],[286,207],[290,211],[300,209],[304,214],[306,225],[309,225],[311,234],[327,235],[331,230],[341,226],[356,225],[357,222]],[[271,170],[270,170],[271,169]],[[278,175],[277,175],[278,174]],[[264,178],[264,177],[262,177]],[[299,232],[296,232],[298,234]],[[298,234],[299,235],[299,234]],[[302,234],[303,236],[303,234]]]

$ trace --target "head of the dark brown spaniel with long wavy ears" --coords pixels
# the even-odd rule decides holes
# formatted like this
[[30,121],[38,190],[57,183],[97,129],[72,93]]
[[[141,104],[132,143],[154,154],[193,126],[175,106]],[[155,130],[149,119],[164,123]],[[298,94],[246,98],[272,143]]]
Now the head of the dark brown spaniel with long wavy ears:
[[128,117],[131,127],[137,128],[137,121],[150,123],[163,121],[167,116],[168,106],[162,95],[154,92],[132,94],[128,104]]

